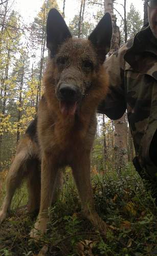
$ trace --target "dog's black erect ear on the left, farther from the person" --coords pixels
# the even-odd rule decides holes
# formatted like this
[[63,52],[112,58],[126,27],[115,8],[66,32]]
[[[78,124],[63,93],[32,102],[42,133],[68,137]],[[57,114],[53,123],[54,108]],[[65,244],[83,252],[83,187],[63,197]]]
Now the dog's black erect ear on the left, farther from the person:
[[68,37],[72,37],[63,17],[56,9],[51,9],[47,19],[47,47],[51,51],[51,56],[57,52],[58,47]]

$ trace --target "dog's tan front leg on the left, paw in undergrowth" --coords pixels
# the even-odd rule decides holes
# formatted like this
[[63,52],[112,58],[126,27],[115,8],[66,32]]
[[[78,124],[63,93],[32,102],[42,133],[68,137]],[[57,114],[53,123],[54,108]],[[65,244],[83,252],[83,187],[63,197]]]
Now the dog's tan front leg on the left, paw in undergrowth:
[[53,187],[57,176],[57,169],[53,158],[50,155],[44,154],[41,160],[41,200],[40,209],[37,217],[37,221],[34,228],[31,230],[30,236],[32,238],[38,238],[47,229],[47,223],[49,221],[49,207],[52,202]]

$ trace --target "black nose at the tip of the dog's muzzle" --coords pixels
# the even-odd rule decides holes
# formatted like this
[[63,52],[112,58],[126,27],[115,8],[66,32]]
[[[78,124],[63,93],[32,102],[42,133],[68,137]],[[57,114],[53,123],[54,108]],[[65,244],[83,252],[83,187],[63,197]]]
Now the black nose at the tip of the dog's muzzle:
[[79,90],[76,86],[61,84],[59,87],[59,98],[65,101],[77,101]]

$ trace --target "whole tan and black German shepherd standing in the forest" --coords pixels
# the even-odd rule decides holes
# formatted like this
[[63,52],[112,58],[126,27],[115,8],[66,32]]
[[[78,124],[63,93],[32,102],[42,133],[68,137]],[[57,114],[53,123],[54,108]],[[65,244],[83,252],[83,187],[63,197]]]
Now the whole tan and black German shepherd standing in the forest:
[[110,48],[111,18],[106,13],[88,39],[72,38],[64,19],[51,9],[47,19],[49,60],[37,118],[17,147],[6,182],[0,222],[7,215],[15,189],[28,179],[28,209],[39,209],[30,236],[46,231],[48,209],[56,199],[65,166],[72,168],[84,216],[105,233],[90,181],[90,153],[96,132],[96,111],[108,88],[103,68]]

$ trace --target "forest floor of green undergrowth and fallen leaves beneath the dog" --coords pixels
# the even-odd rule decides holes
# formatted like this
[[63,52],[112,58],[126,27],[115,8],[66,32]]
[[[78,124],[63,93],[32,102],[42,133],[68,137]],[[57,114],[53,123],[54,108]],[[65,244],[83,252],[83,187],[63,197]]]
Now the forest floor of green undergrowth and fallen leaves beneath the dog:
[[92,175],[95,205],[108,225],[106,237],[80,215],[77,190],[71,174],[67,176],[69,180],[50,209],[47,233],[37,243],[29,238],[35,216],[16,210],[27,202],[26,185],[16,192],[12,210],[0,228],[1,256],[157,254],[157,208],[131,165],[120,178],[114,170]]

